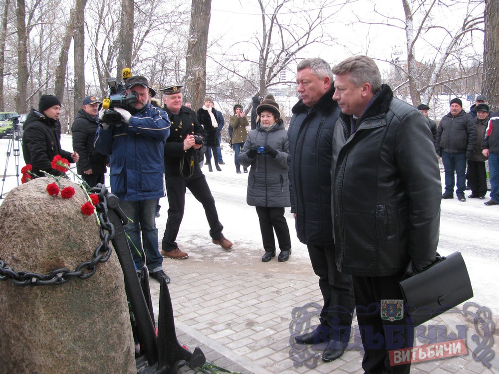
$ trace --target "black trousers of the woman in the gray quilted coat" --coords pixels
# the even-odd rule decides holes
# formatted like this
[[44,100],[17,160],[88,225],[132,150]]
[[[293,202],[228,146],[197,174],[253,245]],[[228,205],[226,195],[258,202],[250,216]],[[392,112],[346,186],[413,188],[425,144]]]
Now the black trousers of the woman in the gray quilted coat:
[[274,231],[281,251],[291,249],[291,237],[286,218],[284,218],[284,207],[255,206],[256,214],[260,222],[261,241],[265,252],[275,251]]

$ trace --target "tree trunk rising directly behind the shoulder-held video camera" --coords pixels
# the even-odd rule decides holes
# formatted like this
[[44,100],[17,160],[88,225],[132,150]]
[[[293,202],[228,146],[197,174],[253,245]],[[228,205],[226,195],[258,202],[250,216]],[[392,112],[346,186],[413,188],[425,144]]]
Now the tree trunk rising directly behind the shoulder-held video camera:
[[121,2],[120,49],[118,53],[118,71],[116,73],[118,82],[122,80],[122,70],[126,67],[132,68],[133,9],[133,0],[123,0]]

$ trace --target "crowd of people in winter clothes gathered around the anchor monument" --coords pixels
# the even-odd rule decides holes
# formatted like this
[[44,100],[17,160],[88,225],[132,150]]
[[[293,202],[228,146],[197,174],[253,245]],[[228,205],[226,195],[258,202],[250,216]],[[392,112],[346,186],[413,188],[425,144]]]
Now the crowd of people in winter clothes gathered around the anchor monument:
[[[408,315],[392,319],[380,306],[402,302],[398,282],[407,269],[421,271],[435,261],[440,204],[454,197],[485,199],[489,162],[492,190],[485,204],[499,204],[499,115],[484,95],[470,113],[461,99],[437,125],[430,107],[417,108],[394,97],[367,56],[345,59],[331,68],[320,58],[297,65],[300,99],[285,114],[272,95],[254,96],[248,121],[243,105],[229,118],[236,173],[248,173],[247,202],[255,206],[262,238],[262,262],[291,255],[284,212],[290,207],[296,235],[306,245],[323,298],[319,325],[294,337],[297,344],[327,343],[325,362],[341,357],[356,310],[366,373],[409,373],[410,364],[390,367],[389,350],[412,347],[414,326]],[[202,171],[225,165],[220,150],[225,126],[212,97],[194,111],[183,102],[183,86],[156,90],[144,76],[125,81],[137,102],[114,108],[121,121],[106,123],[100,100],[86,97],[73,126],[73,152],[60,147],[61,103],[43,95],[24,124],[23,155],[33,173],[60,175],[50,161],[60,155],[77,164],[90,187],[104,182],[110,168],[112,192],[131,218],[126,225],[136,267],[147,266],[153,279],[170,278],[163,259],[187,259],[177,243],[186,189],[201,202],[214,244],[230,250],[215,199]],[[249,109],[248,109],[249,110]],[[229,117],[229,116],[228,116]],[[249,132],[248,132],[249,131]],[[438,158],[445,169],[442,194]],[[155,217],[159,199],[168,198],[168,219],[161,249]],[[378,306],[376,313],[369,310]],[[386,317],[386,318],[385,318]],[[397,338],[386,334],[397,329]]]

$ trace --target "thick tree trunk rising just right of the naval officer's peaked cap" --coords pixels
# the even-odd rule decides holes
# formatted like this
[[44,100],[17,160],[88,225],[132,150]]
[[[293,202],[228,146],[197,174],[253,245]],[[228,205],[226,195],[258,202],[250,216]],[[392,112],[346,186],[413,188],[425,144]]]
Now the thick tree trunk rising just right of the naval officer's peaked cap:
[[206,53],[212,1],[192,0],[191,27],[186,55],[185,100],[201,108],[206,94]]

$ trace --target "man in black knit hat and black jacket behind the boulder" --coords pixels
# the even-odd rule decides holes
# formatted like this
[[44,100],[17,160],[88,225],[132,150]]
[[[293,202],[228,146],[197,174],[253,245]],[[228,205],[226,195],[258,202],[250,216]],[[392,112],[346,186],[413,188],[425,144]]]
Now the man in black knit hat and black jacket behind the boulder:
[[41,172],[54,176],[65,173],[52,169],[51,163],[56,155],[67,159],[70,163],[79,160],[77,152],[67,152],[61,149],[61,125],[59,115],[61,103],[54,95],[41,95],[38,110],[31,108],[23,125],[22,154],[24,162],[31,164],[32,173],[44,177]]

